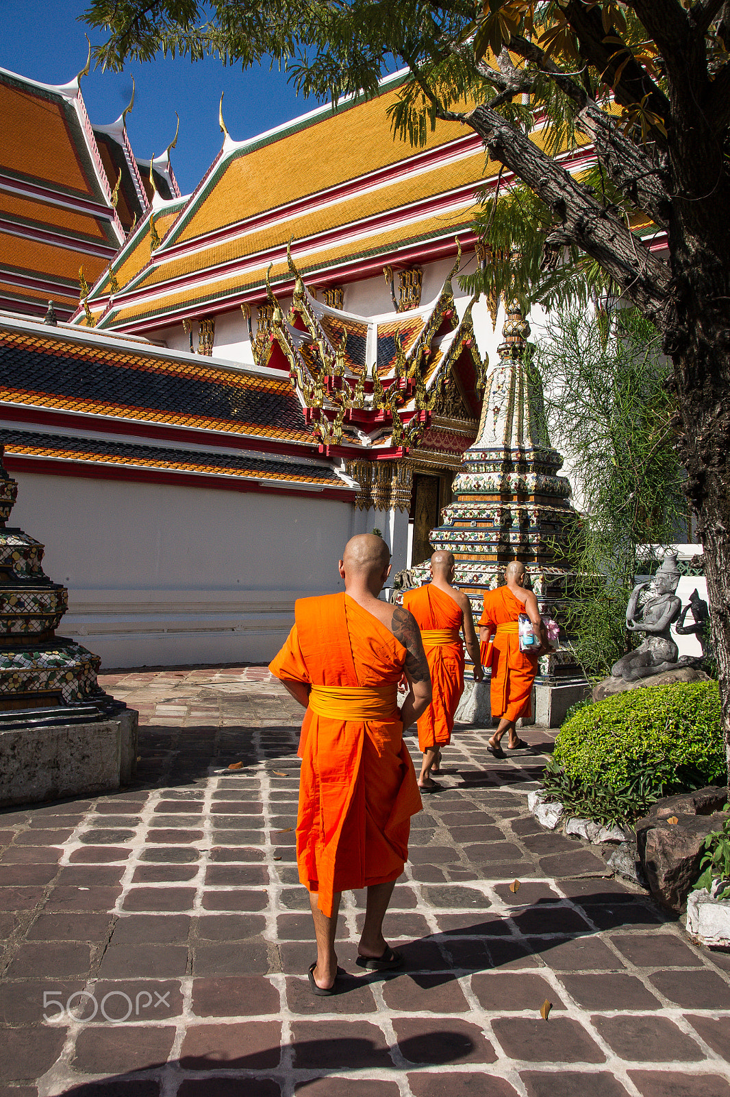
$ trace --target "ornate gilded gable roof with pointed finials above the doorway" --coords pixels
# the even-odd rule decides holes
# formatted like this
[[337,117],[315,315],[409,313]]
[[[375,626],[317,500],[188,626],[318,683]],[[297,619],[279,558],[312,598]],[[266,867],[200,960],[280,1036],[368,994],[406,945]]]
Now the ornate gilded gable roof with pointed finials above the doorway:
[[[267,365],[276,351],[283,354],[305,420],[321,446],[365,450],[361,464],[386,455],[402,460],[423,443],[434,416],[442,427],[456,427],[459,453],[469,436],[474,438],[477,400],[472,396],[475,406],[468,406],[456,365],[468,363],[466,387],[474,394],[483,387],[487,363],[475,339],[474,301],[460,319],[456,310],[452,279],[460,262],[458,241],[457,250],[438,297],[425,308],[399,313],[397,319],[368,319],[319,302],[305,286],[290,248],[295,286],[288,314],[269,279],[255,333],[251,312],[244,308],[256,363]],[[391,506],[408,509],[410,484],[408,491],[404,482],[386,491],[383,482],[389,475],[392,470],[369,474],[372,489],[364,490],[361,505],[381,509],[387,497]],[[362,483],[363,476],[361,468],[355,478]]]

